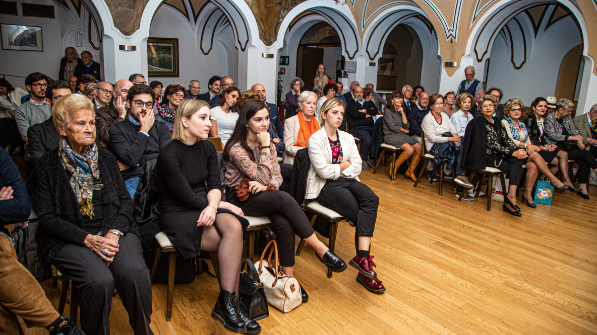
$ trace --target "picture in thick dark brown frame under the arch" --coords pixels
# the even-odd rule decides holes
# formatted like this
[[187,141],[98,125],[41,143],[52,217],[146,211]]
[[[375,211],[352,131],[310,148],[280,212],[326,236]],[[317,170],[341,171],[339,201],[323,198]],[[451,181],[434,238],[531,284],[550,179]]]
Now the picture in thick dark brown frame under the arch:
[[179,39],[147,39],[147,74],[155,77],[179,76]]

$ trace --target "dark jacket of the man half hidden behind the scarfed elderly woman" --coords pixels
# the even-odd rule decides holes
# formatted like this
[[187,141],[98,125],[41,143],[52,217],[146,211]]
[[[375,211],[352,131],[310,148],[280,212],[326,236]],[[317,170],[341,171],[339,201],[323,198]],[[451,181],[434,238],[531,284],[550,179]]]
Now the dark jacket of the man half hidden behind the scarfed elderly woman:
[[33,166],[38,166],[38,160],[48,151],[58,147],[60,134],[54,126],[52,117],[42,123],[30,126],[27,129],[27,139],[29,141],[29,159]]

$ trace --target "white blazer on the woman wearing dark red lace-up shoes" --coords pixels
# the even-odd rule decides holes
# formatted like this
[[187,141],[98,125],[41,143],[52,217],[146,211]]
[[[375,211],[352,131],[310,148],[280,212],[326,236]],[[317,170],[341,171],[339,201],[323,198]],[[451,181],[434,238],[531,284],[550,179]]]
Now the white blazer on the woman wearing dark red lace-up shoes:
[[[359,181],[362,160],[359,150],[356,148],[355,138],[343,131],[338,131],[338,137],[342,146],[342,160],[343,162],[350,162],[349,168],[341,172],[347,178]],[[332,164],[332,149],[324,127],[311,135],[307,150],[309,151],[311,166],[309,175],[307,175],[305,198],[315,199],[319,196],[319,192],[324,187],[327,179],[336,180],[340,178],[340,165]]]

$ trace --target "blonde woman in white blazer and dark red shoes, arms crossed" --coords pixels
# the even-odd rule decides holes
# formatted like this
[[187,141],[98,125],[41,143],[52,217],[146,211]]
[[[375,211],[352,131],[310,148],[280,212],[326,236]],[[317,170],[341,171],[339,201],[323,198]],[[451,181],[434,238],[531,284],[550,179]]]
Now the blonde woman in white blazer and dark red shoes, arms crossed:
[[370,255],[379,198],[359,181],[361,156],[355,138],[338,130],[343,118],[344,103],[340,99],[328,99],[321,106],[321,129],[309,138],[307,147],[311,166],[306,198],[316,198],[356,224],[356,256],[350,260],[350,265],[359,270],[356,281],[368,291],[383,293],[386,289],[373,270],[376,265]]

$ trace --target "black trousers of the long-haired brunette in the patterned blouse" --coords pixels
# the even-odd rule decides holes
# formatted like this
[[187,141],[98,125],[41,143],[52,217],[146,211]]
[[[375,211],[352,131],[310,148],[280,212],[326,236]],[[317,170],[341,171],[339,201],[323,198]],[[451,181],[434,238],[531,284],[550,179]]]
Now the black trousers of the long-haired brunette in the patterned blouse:
[[245,201],[232,196],[229,202],[241,207],[246,215],[266,215],[272,220],[282,266],[294,265],[294,235],[307,238],[315,232],[297,201],[284,191],[251,194]]

